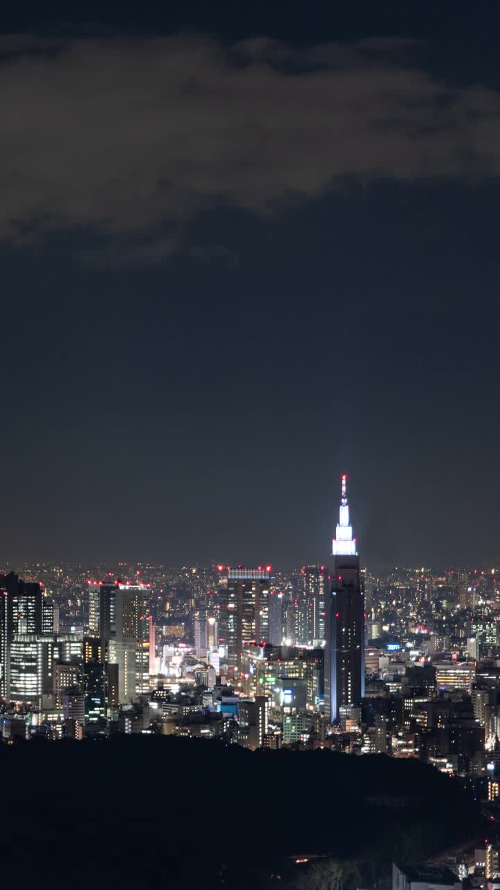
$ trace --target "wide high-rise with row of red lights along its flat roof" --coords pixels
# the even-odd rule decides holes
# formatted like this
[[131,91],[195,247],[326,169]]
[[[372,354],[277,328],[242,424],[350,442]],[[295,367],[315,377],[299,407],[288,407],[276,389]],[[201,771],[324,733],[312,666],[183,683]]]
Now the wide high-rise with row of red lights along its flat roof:
[[257,569],[228,566],[226,570],[220,566],[219,570],[219,641],[228,647],[228,668],[234,674],[241,670],[245,643],[269,640],[271,566]]

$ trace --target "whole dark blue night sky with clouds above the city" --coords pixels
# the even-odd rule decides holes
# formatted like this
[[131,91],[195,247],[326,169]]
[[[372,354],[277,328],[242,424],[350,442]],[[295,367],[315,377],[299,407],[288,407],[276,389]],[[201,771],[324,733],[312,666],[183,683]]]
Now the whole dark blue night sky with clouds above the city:
[[5,5],[0,560],[497,566],[496,4]]

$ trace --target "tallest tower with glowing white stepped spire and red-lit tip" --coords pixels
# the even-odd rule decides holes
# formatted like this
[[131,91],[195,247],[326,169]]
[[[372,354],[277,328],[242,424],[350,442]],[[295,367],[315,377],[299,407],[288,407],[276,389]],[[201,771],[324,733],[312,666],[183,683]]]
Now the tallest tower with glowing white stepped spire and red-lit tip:
[[325,627],[325,712],[335,723],[341,705],[357,705],[365,692],[365,592],[347,502],[347,476],[332,561],[328,565]]

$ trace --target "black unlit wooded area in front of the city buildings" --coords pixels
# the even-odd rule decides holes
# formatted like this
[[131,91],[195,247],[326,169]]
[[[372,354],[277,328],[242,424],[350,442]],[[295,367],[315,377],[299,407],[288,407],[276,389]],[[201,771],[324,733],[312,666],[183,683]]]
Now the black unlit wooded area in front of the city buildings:
[[453,779],[385,756],[118,736],[3,745],[0,769],[19,886],[351,890],[480,829]]

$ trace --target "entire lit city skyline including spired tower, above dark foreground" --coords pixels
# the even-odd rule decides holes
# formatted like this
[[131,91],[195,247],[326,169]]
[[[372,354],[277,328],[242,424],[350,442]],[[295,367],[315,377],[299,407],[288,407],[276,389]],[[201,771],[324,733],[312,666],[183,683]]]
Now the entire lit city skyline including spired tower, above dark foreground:
[[417,756],[493,794],[496,570],[368,574],[345,476],[323,564],[117,569],[127,579],[0,575],[4,740],[163,732]]

